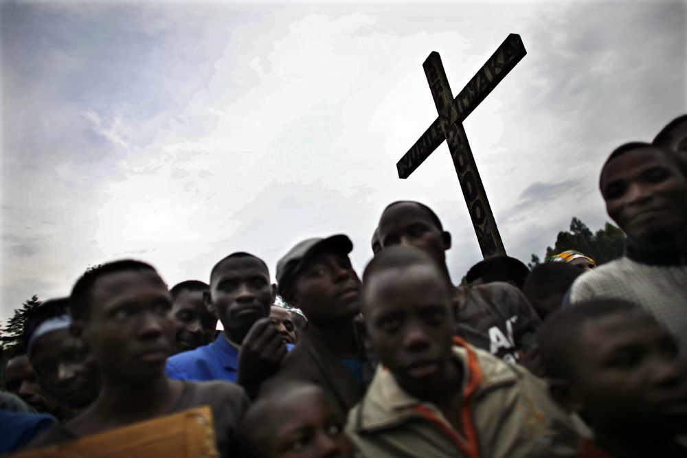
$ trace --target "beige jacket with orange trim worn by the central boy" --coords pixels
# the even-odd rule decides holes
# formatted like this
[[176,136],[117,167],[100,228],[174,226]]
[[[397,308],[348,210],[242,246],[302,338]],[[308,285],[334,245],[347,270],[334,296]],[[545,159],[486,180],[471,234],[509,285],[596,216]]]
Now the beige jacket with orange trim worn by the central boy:
[[379,365],[346,431],[363,457],[574,457],[582,429],[548,395],[543,380],[457,339],[463,365],[464,431],[412,398]]

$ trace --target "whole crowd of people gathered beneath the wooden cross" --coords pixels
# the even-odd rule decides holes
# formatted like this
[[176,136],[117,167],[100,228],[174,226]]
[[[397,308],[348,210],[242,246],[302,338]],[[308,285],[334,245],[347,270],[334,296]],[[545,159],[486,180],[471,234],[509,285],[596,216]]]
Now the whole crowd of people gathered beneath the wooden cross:
[[221,457],[686,457],[687,115],[614,150],[600,192],[622,257],[491,257],[469,286],[414,201],[381,211],[361,277],[343,234],[285,249],[276,284],[247,252],[170,289],[145,262],[93,268],[27,317],[0,453],[150,456],[156,421],[207,406]]

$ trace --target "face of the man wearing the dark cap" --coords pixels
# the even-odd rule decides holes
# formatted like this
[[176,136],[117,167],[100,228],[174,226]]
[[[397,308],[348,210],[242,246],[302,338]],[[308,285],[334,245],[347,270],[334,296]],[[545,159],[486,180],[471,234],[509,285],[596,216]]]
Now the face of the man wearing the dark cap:
[[293,306],[308,321],[350,319],[360,311],[360,279],[348,255],[322,251],[311,257],[293,281]]

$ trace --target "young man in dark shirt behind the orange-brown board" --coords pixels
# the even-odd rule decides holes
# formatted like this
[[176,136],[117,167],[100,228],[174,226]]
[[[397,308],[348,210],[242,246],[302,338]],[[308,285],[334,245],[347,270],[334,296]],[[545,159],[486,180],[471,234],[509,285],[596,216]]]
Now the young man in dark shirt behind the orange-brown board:
[[69,442],[209,404],[222,457],[238,456],[236,431],[249,401],[227,382],[182,382],[164,368],[174,343],[165,282],[143,262],[118,261],[85,273],[71,292],[72,332],[90,347],[100,371],[98,398],[29,448]]

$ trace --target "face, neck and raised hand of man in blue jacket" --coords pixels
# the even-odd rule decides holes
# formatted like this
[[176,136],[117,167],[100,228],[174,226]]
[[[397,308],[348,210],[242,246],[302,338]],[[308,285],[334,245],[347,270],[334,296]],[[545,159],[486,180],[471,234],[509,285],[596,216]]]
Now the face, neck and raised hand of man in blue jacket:
[[267,267],[253,256],[225,260],[205,293],[205,304],[222,322],[225,337],[240,345],[236,383],[251,398],[286,356],[278,323],[269,318],[275,295]]

